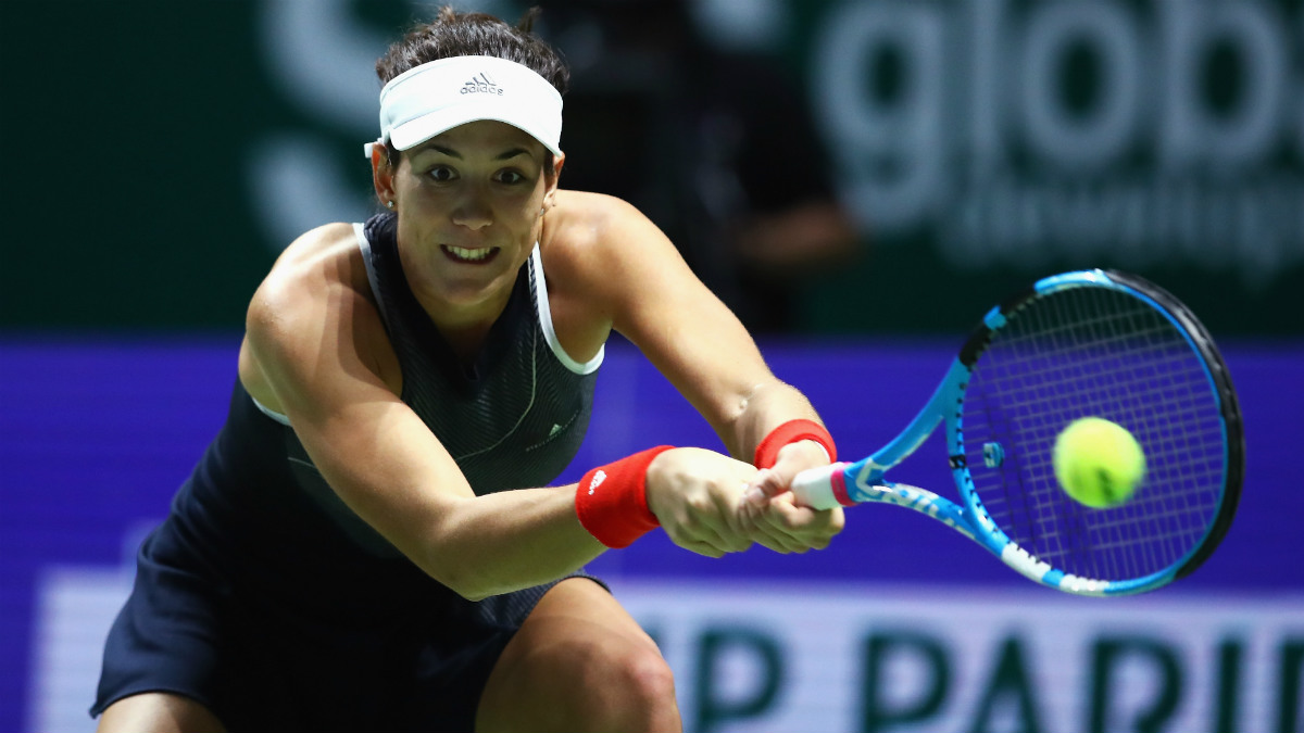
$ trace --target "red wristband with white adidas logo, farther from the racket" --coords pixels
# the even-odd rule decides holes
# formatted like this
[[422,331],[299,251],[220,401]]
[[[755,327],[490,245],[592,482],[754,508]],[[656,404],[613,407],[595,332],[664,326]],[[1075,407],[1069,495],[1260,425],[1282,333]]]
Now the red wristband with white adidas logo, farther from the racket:
[[647,472],[672,447],[651,447],[584,473],[575,488],[575,514],[589,535],[609,548],[627,548],[661,526],[648,509]]

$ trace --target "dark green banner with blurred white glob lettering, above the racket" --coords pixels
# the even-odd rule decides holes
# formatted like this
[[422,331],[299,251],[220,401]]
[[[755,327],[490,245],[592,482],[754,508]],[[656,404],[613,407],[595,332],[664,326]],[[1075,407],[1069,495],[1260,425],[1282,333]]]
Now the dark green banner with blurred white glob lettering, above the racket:
[[[801,64],[875,252],[844,287],[812,288],[812,327],[868,327],[870,278],[872,301],[915,303],[921,283],[999,296],[1106,266],[1185,291],[1218,330],[1304,329],[1287,305],[1304,273],[1300,3],[820,8]],[[939,313],[897,308],[872,327]]]

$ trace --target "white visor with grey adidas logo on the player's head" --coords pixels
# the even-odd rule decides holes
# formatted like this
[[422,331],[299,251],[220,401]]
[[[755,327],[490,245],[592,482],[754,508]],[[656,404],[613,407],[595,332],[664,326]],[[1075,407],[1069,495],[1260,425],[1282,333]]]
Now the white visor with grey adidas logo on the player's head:
[[439,59],[403,72],[381,90],[381,140],[399,150],[477,120],[507,123],[562,154],[562,95],[515,61]]

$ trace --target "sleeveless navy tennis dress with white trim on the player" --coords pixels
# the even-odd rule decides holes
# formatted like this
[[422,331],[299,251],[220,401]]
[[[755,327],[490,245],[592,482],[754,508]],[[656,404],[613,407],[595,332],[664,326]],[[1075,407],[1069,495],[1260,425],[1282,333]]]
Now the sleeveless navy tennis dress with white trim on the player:
[[[355,230],[403,400],[476,493],[556,480],[583,441],[602,355],[580,364],[558,346],[539,249],[467,366],[407,287],[394,215]],[[437,583],[237,381],[226,424],[141,546],[91,715],[168,691],[231,730],[471,730],[489,672],[549,587],[468,601]]]

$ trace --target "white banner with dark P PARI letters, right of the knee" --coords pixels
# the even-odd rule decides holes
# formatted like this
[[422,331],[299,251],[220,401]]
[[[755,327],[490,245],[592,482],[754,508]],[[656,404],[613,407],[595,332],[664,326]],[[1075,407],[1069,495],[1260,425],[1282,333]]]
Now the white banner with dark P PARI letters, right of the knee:
[[617,583],[698,732],[1296,732],[1304,596]]

